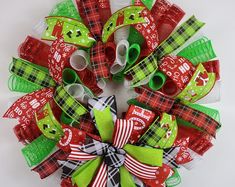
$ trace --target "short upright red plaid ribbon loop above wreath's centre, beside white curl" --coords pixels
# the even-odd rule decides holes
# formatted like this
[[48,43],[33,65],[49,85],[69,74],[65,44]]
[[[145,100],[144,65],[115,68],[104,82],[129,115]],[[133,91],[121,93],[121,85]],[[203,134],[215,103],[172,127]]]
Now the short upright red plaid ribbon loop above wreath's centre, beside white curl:
[[109,78],[109,65],[105,56],[105,45],[102,42],[91,48],[90,57],[96,79]]

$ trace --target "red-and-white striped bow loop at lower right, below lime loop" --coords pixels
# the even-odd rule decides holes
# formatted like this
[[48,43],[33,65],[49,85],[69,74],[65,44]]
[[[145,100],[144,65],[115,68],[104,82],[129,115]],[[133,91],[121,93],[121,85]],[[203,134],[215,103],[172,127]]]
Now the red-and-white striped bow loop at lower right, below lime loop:
[[137,177],[143,179],[156,179],[158,167],[142,164],[128,154],[126,155],[124,165],[130,173]]

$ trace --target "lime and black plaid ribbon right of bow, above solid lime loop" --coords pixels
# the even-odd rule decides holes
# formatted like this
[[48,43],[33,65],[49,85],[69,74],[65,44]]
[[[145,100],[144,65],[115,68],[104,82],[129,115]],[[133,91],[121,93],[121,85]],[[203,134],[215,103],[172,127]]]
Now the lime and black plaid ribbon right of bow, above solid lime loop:
[[138,143],[155,147],[158,142],[165,136],[167,129],[161,128],[159,121],[155,121],[149,129],[141,136]]

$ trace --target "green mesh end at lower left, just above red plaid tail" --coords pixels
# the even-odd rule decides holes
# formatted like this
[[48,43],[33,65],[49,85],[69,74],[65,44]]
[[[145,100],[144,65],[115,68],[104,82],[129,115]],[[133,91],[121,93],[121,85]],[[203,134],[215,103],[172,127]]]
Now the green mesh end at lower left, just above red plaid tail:
[[56,144],[56,141],[41,135],[21,151],[29,167],[32,167],[41,163],[53,151]]

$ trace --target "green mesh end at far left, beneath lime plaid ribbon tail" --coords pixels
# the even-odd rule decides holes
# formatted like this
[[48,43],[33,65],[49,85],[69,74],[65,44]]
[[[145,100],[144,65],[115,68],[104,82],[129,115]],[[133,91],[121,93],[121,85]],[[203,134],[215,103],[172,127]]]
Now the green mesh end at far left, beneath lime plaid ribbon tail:
[[38,86],[32,82],[22,79],[17,75],[10,76],[10,78],[8,79],[8,87],[11,91],[21,93],[31,93],[42,88],[41,86]]

